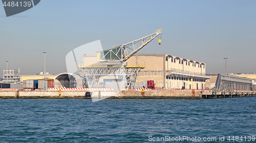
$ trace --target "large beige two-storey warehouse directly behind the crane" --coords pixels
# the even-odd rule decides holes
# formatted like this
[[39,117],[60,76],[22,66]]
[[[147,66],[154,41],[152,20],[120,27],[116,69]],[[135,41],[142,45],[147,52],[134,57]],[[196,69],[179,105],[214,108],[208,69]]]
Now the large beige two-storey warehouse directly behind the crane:
[[167,54],[135,54],[127,64],[145,64],[137,83],[154,80],[157,89],[205,89],[205,64]]

